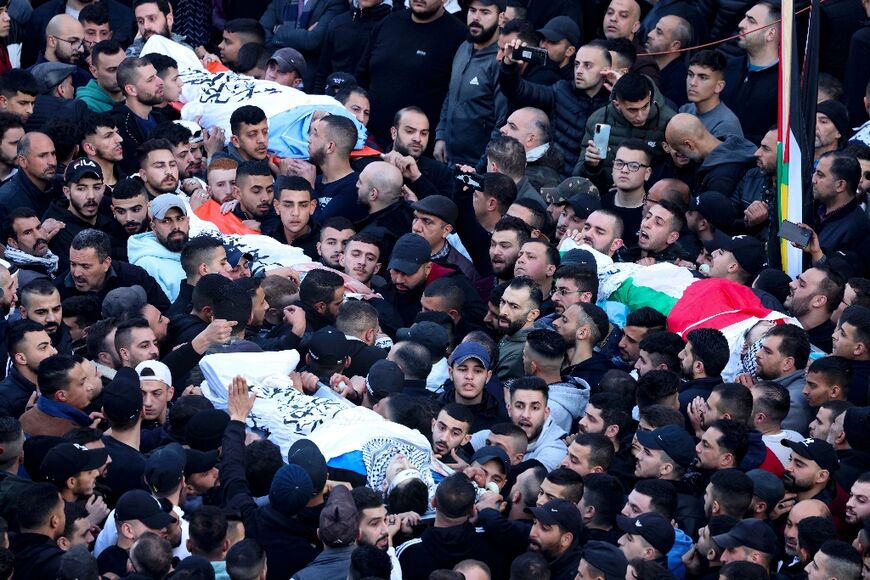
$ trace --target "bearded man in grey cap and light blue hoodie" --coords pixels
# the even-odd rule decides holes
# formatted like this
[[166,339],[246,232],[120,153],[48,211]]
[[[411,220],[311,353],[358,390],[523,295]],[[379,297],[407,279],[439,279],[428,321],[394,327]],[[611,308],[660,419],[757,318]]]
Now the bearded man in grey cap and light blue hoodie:
[[130,263],[148,272],[174,302],[186,278],[181,267],[181,250],[190,237],[187,208],[179,196],[164,193],[149,208],[151,231],[131,236],[127,242]]

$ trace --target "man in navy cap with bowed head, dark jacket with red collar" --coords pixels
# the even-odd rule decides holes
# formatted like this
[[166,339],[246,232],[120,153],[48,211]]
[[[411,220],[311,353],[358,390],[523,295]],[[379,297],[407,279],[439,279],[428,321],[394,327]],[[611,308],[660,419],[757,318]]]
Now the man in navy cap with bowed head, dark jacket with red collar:
[[404,326],[411,326],[422,309],[421,299],[426,286],[437,279],[450,278],[465,294],[462,317],[470,324],[479,325],[486,307],[471,282],[461,272],[433,263],[429,251],[429,242],[417,234],[405,234],[399,238],[387,266],[392,287],[384,298],[396,308]]

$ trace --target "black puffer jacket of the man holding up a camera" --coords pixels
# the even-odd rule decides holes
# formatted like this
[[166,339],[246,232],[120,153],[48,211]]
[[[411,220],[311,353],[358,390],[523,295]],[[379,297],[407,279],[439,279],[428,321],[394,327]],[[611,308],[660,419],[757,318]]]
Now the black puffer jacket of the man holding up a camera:
[[536,85],[520,78],[516,65],[502,65],[499,82],[512,107],[537,107],[550,115],[553,141],[565,157],[569,175],[584,150],[583,132],[586,120],[610,100],[610,93],[601,89],[594,97],[574,90],[573,82],[559,81],[552,86]]

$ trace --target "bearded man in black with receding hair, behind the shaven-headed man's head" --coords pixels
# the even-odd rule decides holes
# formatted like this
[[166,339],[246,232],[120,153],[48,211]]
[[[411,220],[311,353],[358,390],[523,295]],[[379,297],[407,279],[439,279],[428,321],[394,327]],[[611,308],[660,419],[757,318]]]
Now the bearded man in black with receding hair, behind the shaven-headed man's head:
[[396,113],[390,127],[393,150],[384,161],[402,171],[405,185],[419,199],[436,193],[453,193],[453,171],[450,167],[423,155],[429,146],[430,125],[426,113],[419,107],[405,107]]

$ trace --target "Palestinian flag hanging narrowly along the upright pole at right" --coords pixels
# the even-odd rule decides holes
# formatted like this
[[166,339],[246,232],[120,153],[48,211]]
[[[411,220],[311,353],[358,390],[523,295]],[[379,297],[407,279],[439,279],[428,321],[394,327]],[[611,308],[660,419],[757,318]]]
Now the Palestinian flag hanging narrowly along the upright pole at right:
[[[811,6],[804,61],[803,66],[800,66],[794,1],[782,2],[777,120],[777,225],[783,220],[812,223],[811,183],[819,74],[819,0],[812,0]],[[786,240],[780,239],[779,243],[782,269],[796,277],[803,271],[804,253]]]

